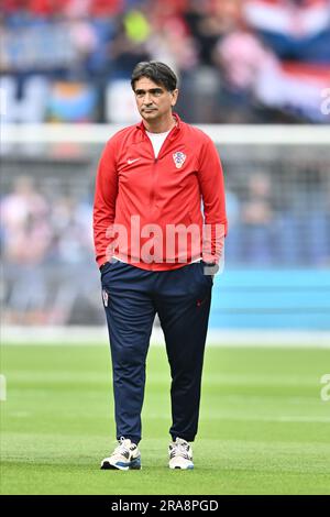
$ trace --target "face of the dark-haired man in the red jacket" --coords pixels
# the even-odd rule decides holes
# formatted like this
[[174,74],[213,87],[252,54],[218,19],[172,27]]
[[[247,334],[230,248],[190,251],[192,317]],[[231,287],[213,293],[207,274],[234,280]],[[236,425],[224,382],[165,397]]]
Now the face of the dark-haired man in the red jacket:
[[134,92],[139,113],[147,122],[153,122],[172,113],[178,90],[168,91],[147,77],[141,77],[135,81]]

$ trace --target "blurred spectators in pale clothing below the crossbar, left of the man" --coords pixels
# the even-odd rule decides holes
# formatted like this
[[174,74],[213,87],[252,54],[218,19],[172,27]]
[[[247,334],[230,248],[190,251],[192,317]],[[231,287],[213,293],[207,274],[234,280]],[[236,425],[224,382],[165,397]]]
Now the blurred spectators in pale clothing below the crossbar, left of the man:
[[37,266],[76,264],[92,257],[91,202],[73,194],[42,193],[31,176],[19,176],[0,202],[6,261]]

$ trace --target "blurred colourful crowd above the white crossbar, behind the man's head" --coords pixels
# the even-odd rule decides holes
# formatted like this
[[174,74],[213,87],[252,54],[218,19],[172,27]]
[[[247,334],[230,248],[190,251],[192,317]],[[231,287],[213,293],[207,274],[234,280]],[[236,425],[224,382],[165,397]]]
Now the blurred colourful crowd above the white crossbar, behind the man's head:
[[[329,0],[2,0],[8,121],[129,122],[139,61],[187,122],[329,122]],[[124,79],[124,82],[122,80]],[[329,96],[330,97],[330,96]]]

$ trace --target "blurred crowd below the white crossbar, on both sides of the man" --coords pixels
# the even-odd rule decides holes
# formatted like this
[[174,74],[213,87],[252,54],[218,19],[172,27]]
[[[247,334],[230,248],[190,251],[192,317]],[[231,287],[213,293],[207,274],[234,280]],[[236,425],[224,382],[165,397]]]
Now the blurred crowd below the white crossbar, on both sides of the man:
[[[229,266],[329,266],[330,178],[295,182],[265,170],[240,177],[228,174]],[[295,191],[286,191],[288,185]],[[42,188],[18,176],[0,202],[1,249],[13,266],[94,264],[92,191],[84,197]],[[308,207],[308,210],[306,210]]]

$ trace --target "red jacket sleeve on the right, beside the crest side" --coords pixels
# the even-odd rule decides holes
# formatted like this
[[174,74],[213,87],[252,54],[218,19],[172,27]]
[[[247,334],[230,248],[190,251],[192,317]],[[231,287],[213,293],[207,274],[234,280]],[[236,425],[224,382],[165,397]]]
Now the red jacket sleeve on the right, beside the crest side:
[[205,217],[202,258],[219,263],[228,231],[224,179],[218,151],[208,136],[201,146],[198,177]]

